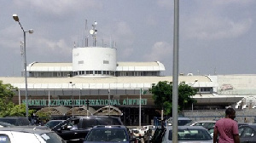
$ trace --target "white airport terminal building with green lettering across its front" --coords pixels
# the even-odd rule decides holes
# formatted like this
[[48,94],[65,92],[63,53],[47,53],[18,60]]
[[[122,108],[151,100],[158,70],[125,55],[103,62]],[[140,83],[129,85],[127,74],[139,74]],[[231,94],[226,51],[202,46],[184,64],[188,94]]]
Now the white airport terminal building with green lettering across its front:
[[[171,82],[172,77],[162,75],[165,66],[160,61],[118,62],[116,57],[114,47],[74,47],[72,63],[29,64],[26,67],[29,108],[72,108],[87,106],[88,101],[96,110],[114,106],[122,112],[125,125],[137,125],[141,105],[142,123],[150,124],[153,117],[160,117],[160,109],[154,106],[148,89],[160,81]],[[0,77],[0,80],[19,89],[14,97],[16,104],[25,102],[24,77]],[[256,75],[181,74],[178,80],[199,89],[193,97],[197,103],[188,109],[256,106]]]

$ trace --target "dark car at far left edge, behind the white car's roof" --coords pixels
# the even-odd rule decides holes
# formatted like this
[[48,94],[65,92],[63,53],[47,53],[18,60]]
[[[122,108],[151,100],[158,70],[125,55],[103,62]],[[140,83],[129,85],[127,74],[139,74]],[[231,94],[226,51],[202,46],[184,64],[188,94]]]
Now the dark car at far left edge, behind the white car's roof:
[[0,117],[0,122],[10,123],[15,126],[28,126],[29,120],[26,117]]

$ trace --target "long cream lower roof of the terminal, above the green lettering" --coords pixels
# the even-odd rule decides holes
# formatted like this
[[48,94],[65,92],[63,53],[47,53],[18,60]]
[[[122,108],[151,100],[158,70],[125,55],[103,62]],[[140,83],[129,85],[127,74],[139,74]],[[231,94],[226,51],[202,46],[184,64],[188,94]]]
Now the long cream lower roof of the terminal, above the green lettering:
[[[25,89],[24,77],[0,77],[3,83],[11,83],[19,89]],[[197,80],[198,82],[195,82]],[[141,89],[151,88],[152,83],[172,82],[172,77],[27,77],[28,89]],[[191,86],[212,87],[212,82],[205,76],[181,76],[179,82]],[[74,86],[70,85],[74,83]],[[196,87],[196,86],[195,86]]]

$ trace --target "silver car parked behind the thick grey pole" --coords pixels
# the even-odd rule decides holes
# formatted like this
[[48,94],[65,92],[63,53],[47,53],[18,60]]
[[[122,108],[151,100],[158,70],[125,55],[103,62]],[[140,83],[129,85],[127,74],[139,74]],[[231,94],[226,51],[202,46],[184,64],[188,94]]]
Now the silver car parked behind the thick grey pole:
[[[207,129],[201,126],[178,126],[178,142],[212,143],[212,136]],[[172,143],[172,126],[166,126],[162,143]]]

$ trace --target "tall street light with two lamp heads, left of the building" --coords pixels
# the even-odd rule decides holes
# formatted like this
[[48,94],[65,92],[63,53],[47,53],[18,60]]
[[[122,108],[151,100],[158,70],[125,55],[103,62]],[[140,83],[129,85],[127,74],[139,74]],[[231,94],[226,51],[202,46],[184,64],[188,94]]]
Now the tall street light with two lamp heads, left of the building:
[[26,96],[26,118],[28,118],[27,77],[26,77],[26,32],[32,34],[34,31],[32,29],[25,31],[20,24],[20,20],[17,14],[13,14],[13,18],[15,21],[19,22],[19,25],[21,27],[21,30],[23,31],[23,37],[24,37],[24,76],[25,76],[25,96]]

